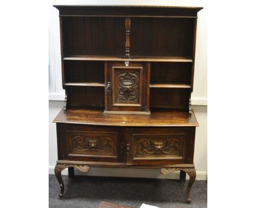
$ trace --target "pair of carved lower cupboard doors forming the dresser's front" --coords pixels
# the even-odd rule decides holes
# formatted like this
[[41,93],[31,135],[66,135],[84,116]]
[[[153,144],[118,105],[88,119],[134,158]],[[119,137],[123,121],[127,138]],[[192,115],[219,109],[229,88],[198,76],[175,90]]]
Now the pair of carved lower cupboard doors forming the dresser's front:
[[[58,123],[59,160],[113,165],[193,164],[195,127],[113,127]],[[126,133],[125,133],[126,132]]]

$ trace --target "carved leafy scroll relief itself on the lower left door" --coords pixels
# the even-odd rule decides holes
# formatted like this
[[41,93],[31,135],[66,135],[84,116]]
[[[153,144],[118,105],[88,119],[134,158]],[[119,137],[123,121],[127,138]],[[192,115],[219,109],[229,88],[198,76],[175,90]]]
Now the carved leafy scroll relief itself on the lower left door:
[[114,141],[111,137],[71,136],[71,152],[101,152],[114,154]]

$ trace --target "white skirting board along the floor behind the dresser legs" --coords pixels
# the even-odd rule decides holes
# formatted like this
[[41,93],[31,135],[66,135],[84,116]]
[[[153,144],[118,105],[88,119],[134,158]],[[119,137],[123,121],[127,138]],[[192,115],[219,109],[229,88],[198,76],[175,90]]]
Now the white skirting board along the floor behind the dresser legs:
[[[49,166],[49,174],[54,174],[54,166]],[[62,171],[62,175],[67,175],[67,168]],[[89,176],[113,176],[113,177],[130,177],[130,178],[150,178],[150,179],[179,179],[179,171],[162,175],[159,170],[155,169],[135,169],[135,168],[97,168],[92,167],[88,173],[79,172],[75,169],[75,175]],[[187,179],[189,176],[187,174]],[[207,172],[196,172],[196,180],[207,180]]]

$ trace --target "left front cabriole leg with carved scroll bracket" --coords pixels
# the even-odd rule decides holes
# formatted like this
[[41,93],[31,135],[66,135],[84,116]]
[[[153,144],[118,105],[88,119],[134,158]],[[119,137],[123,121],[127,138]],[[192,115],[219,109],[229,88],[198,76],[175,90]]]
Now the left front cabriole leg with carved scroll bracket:
[[62,198],[64,194],[64,183],[61,177],[62,170],[66,168],[77,168],[78,170],[82,172],[88,172],[90,170],[89,166],[83,165],[83,164],[65,164],[65,163],[57,163],[55,166],[55,176],[57,180],[59,181],[61,192],[59,194],[59,197]]

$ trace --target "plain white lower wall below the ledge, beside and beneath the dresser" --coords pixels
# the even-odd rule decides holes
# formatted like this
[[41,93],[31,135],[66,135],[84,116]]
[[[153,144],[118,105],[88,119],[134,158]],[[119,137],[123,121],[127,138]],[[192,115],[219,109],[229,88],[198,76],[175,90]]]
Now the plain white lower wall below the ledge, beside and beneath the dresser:
[[[49,174],[54,174],[54,167],[57,161],[57,136],[56,124],[52,121],[61,111],[62,101],[49,101]],[[207,106],[192,106],[200,127],[196,129],[195,156],[196,179],[206,180],[207,178]],[[99,171],[100,170],[100,171]],[[67,174],[67,169],[62,174]],[[117,168],[91,168],[88,173],[75,172],[79,175],[97,176],[125,176],[140,178],[166,178],[178,179],[178,172],[169,175],[162,175],[159,170],[137,170]]]

